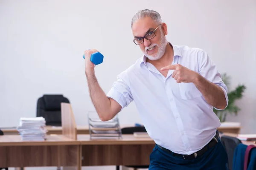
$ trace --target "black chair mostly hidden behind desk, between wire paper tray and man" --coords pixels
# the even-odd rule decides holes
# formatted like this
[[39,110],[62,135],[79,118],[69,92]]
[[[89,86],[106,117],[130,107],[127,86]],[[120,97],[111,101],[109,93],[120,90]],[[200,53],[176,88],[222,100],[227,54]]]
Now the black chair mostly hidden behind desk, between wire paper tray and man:
[[[135,126],[135,127],[124,127],[121,129],[122,134],[133,134],[134,132],[147,132],[144,126]],[[126,166],[126,165],[125,165]],[[132,165],[132,166],[126,166],[126,167],[131,167],[134,168],[134,170],[137,170],[139,168],[148,168],[148,165]],[[116,166],[116,170],[119,170],[119,165]]]

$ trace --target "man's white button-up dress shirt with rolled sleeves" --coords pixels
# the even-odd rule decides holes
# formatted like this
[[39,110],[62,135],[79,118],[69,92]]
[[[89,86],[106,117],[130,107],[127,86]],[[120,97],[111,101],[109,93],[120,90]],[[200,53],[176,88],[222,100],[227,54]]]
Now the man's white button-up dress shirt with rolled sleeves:
[[[172,64],[183,65],[220,86],[228,103],[227,86],[207,53],[199,48],[172,46]],[[118,75],[107,96],[122,109],[134,101],[143,125],[156,144],[175,153],[192,154],[215,136],[221,123],[196,86],[177,83],[172,72],[169,70],[164,77],[143,56]]]

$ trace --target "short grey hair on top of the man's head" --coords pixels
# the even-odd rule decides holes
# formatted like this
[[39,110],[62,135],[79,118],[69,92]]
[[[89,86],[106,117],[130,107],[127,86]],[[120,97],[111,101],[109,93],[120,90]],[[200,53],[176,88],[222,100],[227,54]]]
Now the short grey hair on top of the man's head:
[[134,17],[131,20],[131,27],[134,24],[134,22],[136,22],[137,20],[141,20],[145,17],[151,17],[151,19],[158,24],[163,23],[160,14],[157,11],[153,11],[150,9],[144,9],[141,11],[138,11]]

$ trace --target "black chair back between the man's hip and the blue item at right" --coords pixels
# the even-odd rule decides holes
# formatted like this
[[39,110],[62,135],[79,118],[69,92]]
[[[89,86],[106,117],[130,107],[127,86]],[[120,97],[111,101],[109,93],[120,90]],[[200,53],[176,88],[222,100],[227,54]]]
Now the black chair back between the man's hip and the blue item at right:
[[221,136],[221,143],[223,144],[228,158],[228,169],[233,170],[233,156],[236,147],[241,143],[241,141],[235,137],[231,136]]

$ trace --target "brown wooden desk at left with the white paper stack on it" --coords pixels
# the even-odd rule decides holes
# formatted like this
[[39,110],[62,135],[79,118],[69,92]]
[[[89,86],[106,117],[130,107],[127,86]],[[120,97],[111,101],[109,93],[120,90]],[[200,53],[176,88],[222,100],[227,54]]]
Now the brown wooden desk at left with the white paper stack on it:
[[79,169],[79,141],[63,135],[46,141],[22,141],[20,135],[0,136],[0,167],[64,166]]

